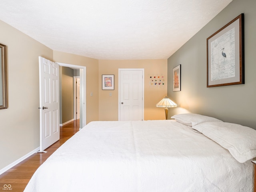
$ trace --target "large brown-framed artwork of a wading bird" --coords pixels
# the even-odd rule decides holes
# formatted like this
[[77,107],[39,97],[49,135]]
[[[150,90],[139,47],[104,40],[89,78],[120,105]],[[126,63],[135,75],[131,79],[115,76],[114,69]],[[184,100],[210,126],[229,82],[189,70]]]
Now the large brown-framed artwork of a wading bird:
[[207,87],[244,84],[244,14],[207,38]]

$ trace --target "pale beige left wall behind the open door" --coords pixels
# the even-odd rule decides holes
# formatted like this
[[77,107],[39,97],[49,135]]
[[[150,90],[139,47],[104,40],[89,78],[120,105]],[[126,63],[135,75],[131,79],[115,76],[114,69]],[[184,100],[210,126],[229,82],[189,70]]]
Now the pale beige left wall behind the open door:
[[38,56],[53,59],[43,44],[0,20],[7,46],[8,108],[0,110],[0,170],[39,147]]

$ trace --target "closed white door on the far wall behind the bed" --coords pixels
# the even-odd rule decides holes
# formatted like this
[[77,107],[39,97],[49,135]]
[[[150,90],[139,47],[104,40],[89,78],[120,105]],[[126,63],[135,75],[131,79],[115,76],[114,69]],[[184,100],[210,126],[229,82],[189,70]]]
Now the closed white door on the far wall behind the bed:
[[144,69],[119,69],[119,120],[144,120]]

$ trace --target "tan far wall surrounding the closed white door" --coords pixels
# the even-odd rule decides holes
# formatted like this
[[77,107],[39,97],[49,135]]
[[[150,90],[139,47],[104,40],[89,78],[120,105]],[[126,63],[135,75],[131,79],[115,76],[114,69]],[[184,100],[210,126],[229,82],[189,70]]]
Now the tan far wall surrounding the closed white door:
[[[118,120],[118,68],[144,68],[144,120],[165,119],[156,104],[167,94],[167,60],[99,60],[99,120]],[[102,74],[114,74],[114,90],[102,90]],[[150,86],[150,76],[164,76],[165,86]],[[109,93],[112,96],[109,96]]]

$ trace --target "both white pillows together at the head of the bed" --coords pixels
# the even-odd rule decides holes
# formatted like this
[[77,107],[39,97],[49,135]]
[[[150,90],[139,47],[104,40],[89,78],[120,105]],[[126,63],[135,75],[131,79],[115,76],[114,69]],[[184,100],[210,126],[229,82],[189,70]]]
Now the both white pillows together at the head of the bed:
[[178,114],[171,118],[214,140],[240,163],[256,157],[256,130],[250,127],[200,114]]

